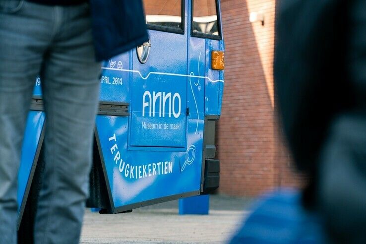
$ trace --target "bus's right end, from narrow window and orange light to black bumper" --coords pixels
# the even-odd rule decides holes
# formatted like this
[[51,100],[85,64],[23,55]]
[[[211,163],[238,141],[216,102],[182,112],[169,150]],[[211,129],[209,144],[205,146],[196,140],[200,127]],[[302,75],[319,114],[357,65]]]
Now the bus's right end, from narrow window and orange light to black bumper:
[[[219,185],[215,122],[221,115],[224,89],[224,42],[219,0],[189,0],[188,7],[188,68],[191,74],[188,89],[192,89],[192,94],[188,92],[188,103],[196,104],[196,118],[204,124],[201,192],[205,192]],[[194,113],[190,118],[195,118]]]

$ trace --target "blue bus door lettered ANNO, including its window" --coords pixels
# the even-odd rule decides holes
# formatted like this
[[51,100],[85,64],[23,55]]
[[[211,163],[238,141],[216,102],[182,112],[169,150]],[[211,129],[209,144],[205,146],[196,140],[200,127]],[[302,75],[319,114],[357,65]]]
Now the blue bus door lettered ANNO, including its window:
[[150,41],[133,55],[130,147],[185,148],[184,0],[143,0]]

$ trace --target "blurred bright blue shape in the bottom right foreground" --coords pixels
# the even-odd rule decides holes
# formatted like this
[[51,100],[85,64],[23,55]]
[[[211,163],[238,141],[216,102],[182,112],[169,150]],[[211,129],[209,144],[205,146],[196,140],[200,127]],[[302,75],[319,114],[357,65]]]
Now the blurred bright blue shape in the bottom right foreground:
[[305,210],[301,192],[282,189],[267,194],[230,244],[324,244],[322,219]]

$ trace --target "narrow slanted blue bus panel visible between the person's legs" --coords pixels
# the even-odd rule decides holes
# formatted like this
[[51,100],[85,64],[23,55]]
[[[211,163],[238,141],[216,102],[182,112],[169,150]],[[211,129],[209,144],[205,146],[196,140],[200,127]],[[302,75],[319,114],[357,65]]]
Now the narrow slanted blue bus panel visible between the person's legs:
[[23,201],[23,196],[27,187],[44,122],[45,114],[43,112],[29,112],[25,127],[20,168],[18,173],[18,210]]

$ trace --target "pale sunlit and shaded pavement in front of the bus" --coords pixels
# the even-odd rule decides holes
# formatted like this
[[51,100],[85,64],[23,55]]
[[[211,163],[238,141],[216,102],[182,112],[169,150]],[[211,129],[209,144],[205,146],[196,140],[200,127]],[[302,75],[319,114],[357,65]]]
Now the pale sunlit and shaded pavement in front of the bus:
[[178,201],[125,214],[85,211],[81,243],[225,243],[248,213],[251,199],[212,195],[209,215],[179,215]]

